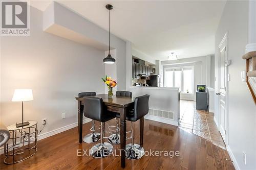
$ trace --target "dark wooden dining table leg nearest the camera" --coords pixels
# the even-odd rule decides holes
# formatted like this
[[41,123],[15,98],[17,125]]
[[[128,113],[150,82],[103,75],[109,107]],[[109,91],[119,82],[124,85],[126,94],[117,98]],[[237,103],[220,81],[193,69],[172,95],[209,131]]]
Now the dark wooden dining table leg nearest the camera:
[[120,111],[120,149],[121,167],[125,167],[125,145],[126,145],[126,108]]

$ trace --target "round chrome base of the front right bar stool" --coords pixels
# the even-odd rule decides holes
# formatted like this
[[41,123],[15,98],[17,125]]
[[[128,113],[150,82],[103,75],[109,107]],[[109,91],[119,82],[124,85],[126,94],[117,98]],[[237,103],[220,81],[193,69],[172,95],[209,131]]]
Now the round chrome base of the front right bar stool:
[[139,144],[129,143],[125,146],[125,157],[127,159],[136,160],[140,159],[144,155],[145,151],[144,148],[141,147]]

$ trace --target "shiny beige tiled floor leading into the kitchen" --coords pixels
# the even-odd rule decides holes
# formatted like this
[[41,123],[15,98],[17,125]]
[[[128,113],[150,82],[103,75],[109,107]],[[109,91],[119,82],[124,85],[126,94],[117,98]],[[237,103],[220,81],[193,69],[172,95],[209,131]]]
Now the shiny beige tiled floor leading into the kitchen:
[[214,113],[196,110],[194,101],[180,101],[181,121],[179,127],[194,133],[226,149],[226,145],[214,122]]

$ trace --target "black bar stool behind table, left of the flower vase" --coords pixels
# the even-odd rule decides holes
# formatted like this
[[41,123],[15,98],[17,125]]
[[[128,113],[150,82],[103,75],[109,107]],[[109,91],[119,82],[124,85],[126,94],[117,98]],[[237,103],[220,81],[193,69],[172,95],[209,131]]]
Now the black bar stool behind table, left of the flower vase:
[[[83,98],[84,96],[93,96],[96,95],[96,92],[81,92],[78,93],[79,98]],[[86,143],[94,143],[100,139],[100,133],[95,132],[95,120],[92,119],[92,128],[90,129],[92,133],[83,136],[82,140]]]

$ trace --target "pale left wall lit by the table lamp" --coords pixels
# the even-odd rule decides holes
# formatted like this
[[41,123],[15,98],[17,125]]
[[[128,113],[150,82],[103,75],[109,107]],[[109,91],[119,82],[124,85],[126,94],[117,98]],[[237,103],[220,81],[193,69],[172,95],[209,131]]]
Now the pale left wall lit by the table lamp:
[[[1,120],[21,120],[14,89],[31,88],[34,101],[24,103],[25,119],[47,118],[42,133],[77,122],[78,92],[104,93],[104,52],[42,31],[42,12],[31,7],[30,36],[1,36]],[[65,112],[66,119],[61,119]]]

